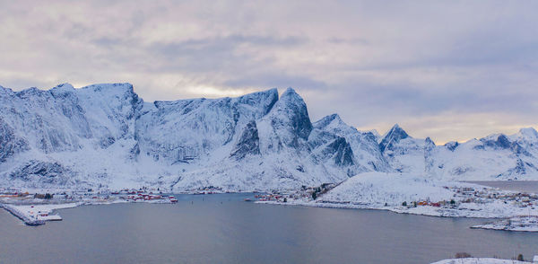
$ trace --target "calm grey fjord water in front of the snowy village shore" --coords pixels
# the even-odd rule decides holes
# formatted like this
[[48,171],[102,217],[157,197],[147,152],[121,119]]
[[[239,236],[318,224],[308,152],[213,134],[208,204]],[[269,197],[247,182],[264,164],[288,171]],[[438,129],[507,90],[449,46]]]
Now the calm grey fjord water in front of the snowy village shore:
[[538,233],[469,229],[483,219],[242,201],[251,196],[75,207],[59,211],[64,221],[37,227],[0,211],[0,263],[430,263],[459,251],[538,254]]

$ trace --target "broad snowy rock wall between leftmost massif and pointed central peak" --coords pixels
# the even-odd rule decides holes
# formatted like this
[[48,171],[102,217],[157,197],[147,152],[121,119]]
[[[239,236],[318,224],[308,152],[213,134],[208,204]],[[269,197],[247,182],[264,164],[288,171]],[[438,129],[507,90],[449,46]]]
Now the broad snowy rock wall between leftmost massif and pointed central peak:
[[136,125],[141,154],[166,163],[191,163],[222,145],[278,101],[276,89],[239,98],[145,103]]

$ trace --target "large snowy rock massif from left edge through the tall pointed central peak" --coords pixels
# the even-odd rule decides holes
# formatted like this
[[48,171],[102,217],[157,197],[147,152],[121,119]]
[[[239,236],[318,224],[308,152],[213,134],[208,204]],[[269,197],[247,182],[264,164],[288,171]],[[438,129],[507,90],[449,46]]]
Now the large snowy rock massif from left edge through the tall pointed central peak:
[[0,101],[1,184],[265,190],[335,182],[360,171],[344,137],[332,135],[320,146],[326,159],[313,154],[314,128],[292,89],[280,99],[272,89],[144,102],[131,84],[62,84],[48,91],[1,88]]

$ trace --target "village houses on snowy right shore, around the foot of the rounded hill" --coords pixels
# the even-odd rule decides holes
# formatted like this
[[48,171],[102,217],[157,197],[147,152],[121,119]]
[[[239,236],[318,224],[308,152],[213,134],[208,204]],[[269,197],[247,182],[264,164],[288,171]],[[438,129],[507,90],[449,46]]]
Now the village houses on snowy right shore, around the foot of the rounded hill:
[[[516,191],[493,189],[479,185],[443,186],[442,189],[452,195],[448,198],[434,199],[421,196],[420,194],[408,197],[417,199],[387,198],[386,194],[375,193],[368,198],[355,199],[332,199],[326,198],[325,194],[337,187],[338,184],[322,184],[319,187],[303,187],[299,191],[291,193],[274,192],[256,196],[256,202],[280,205],[299,205],[309,207],[342,207],[342,208],[367,208],[384,209],[396,213],[406,213],[424,216],[447,216],[447,217],[479,217],[509,219],[509,224],[525,223],[525,228],[510,228],[500,226],[497,230],[534,231],[538,229],[535,220],[538,217],[538,194]],[[514,218],[516,217],[516,218]],[[526,218],[522,218],[526,217]],[[523,219],[523,220],[521,220]],[[489,227],[484,225],[484,228]],[[482,228],[477,226],[475,228]]]

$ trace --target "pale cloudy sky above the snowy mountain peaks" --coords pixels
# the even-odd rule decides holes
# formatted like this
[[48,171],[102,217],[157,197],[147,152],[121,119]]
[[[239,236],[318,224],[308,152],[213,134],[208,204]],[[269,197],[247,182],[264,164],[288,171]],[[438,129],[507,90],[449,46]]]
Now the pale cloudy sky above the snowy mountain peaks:
[[[270,4],[268,4],[270,3]],[[0,85],[131,83],[145,101],[295,88],[437,143],[538,128],[535,1],[3,1]]]

